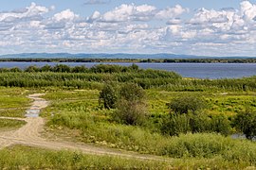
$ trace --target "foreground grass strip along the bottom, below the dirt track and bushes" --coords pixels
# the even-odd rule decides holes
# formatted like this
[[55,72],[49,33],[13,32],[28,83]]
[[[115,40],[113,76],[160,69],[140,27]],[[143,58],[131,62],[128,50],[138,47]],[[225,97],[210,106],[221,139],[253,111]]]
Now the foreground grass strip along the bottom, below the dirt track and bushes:
[[[248,164],[214,159],[145,161],[15,145],[0,150],[1,169],[245,169]],[[251,166],[252,167],[252,166]]]

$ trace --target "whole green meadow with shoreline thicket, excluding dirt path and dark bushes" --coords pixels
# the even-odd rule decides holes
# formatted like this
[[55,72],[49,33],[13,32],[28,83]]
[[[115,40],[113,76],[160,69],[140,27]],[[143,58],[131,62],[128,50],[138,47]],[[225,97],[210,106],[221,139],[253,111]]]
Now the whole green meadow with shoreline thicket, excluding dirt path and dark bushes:
[[[3,111],[23,109],[13,113],[14,116],[24,116],[22,112],[25,112],[29,103],[26,98],[28,93],[46,93],[44,98],[50,104],[42,110],[41,116],[46,119],[44,135],[47,138],[58,137],[174,160],[166,163],[125,161],[120,158],[116,160],[105,156],[14,146],[0,151],[6,154],[6,159],[0,160],[3,167],[22,165],[30,168],[60,168],[61,164],[56,164],[54,159],[57,156],[65,158],[66,162],[60,162],[67,163],[65,167],[70,169],[84,168],[85,165],[98,168],[242,169],[256,165],[255,141],[233,139],[230,136],[241,133],[234,125],[238,114],[256,111],[255,76],[210,80],[183,78],[173,72],[140,70],[136,65],[98,65],[91,69],[57,65],[47,68],[30,67],[25,71],[2,70],[0,79],[0,84],[4,86],[0,88],[1,98],[9,98],[3,99]],[[135,84],[133,87],[136,87],[137,92],[144,93],[141,102],[136,98],[137,94],[132,96],[136,98],[132,101],[135,112],[142,111],[140,106],[146,109],[142,122],[136,124],[116,119],[120,103],[130,102],[120,96],[127,84]],[[119,91],[116,96],[118,104],[113,109],[105,108],[100,102],[99,97],[107,85],[113,85],[114,90]],[[179,114],[170,108],[170,103],[174,103],[180,96],[185,96],[185,99],[190,96],[203,99],[205,107]],[[3,116],[8,115],[11,113],[3,113]],[[255,125],[256,119],[251,120]],[[17,156],[18,160],[9,161],[9,150],[13,154],[26,155],[27,159]],[[37,152],[42,153],[42,156],[37,155]],[[39,161],[29,161],[33,155]],[[74,157],[80,159],[72,164]],[[47,161],[44,164],[41,160],[45,159]],[[110,166],[105,166],[107,161]]]

